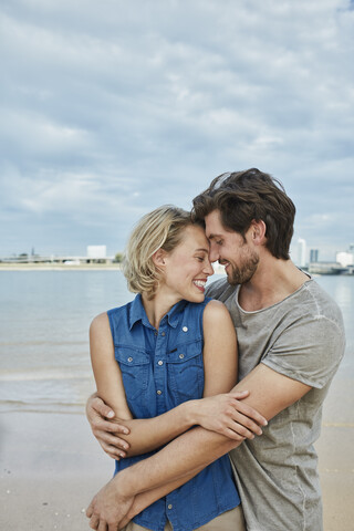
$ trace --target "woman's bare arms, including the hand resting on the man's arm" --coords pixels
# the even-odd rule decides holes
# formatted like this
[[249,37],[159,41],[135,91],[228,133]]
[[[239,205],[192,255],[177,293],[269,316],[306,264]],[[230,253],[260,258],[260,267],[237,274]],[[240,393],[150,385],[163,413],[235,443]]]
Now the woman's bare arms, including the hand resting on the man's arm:
[[[211,301],[204,312],[205,329],[205,396],[228,392],[237,378],[237,344],[235,329],[227,309]],[[190,400],[149,419],[133,419],[128,409],[122,373],[114,357],[110,321],[98,315],[90,327],[91,360],[101,398],[115,413],[114,423],[127,431],[119,435],[121,457],[145,454],[169,442],[199,424],[235,440],[260,435],[263,418],[241,400],[247,393],[219,395]]]

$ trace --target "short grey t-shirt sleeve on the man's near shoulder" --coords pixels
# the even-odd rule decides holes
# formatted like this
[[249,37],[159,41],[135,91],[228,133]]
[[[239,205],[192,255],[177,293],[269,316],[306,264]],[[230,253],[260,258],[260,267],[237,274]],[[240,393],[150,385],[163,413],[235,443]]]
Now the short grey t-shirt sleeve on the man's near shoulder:
[[322,388],[335,374],[345,347],[335,321],[303,316],[283,330],[261,363],[284,376]]

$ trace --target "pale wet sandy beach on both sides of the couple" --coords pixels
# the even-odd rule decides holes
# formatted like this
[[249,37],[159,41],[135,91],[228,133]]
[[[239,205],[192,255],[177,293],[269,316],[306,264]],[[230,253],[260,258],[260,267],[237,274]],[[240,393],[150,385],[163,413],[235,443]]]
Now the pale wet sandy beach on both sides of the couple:
[[[347,531],[354,520],[352,389],[342,375],[333,383],[316,445],[325,531]],[[4,412],[0,418],[0,529],[87,531],[85,508],[112,476],[113,462],[84,415]]]

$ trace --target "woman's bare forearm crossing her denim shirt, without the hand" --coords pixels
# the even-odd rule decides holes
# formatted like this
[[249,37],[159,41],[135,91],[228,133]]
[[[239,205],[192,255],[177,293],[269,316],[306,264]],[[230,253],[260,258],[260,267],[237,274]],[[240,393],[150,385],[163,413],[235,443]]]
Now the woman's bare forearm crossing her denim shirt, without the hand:
[[122,438],[129,445],[126,455],[138,456],[155,450],[187,431],[195,424],[197,400],[186,402],[154,418],[122,420],[129,429]]

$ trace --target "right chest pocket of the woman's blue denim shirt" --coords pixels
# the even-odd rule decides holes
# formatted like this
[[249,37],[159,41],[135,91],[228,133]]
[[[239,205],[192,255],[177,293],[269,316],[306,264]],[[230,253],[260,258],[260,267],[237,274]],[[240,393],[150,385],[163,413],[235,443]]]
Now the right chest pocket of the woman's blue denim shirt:
[[202,397],[204,362],[201,340],[181,344],[167,354],[167,383],[178,404]]

